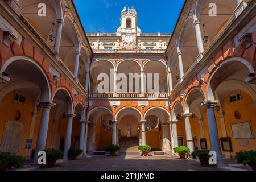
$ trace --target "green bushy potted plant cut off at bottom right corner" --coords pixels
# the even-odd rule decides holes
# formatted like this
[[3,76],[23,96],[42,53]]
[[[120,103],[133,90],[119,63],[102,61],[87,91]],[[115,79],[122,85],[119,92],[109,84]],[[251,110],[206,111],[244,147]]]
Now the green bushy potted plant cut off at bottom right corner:
[[238,163],[248,164],[253,171],[256,171],[256,150],[236,152]]

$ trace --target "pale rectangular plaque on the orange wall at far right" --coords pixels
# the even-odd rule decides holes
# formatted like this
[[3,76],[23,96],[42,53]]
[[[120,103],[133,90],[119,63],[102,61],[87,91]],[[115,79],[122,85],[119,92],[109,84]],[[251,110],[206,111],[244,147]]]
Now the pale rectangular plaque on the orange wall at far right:
[[254,138],[251,121],[230,124],[233,139]]

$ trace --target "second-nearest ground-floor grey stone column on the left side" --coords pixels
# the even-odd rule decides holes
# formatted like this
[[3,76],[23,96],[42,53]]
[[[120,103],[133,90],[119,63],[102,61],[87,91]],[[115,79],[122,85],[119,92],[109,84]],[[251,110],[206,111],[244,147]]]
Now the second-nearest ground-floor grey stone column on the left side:
[[72,135],[72,123],[73,123],[73,117],[76,115],[74,114],[67,114],[68,117],[68,123],[67,123],[67,130],[66,130],[66,136],[65,136],[65,144],[64,144],[64,157],[68,157],[68,150],[71,145],[71,135]]

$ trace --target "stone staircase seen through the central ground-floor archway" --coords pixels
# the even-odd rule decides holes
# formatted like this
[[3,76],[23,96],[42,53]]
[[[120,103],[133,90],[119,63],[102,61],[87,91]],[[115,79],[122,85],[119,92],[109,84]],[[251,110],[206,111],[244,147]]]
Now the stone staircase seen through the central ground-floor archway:
[[139,139],[137,137],[121,137],[119,139],[119,155],[139,155]]

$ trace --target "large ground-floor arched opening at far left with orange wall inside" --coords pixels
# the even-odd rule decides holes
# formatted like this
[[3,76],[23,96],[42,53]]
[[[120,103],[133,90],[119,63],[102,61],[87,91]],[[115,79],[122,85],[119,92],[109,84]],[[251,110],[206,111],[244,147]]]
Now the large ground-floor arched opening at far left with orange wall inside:
[[[26,156],[22,147],[26,139],[36,141],[38,135],[42,114],[42,109],[36,108],[38,100],[49,101],[51,97],[48,78],[39,65],[22,56],[7,60],[2,72],[9,74],[10,82],[0,84],[0,113],[5,113],[0,114],[0,151]],[[35,147],[33,142],[32,149]]]

